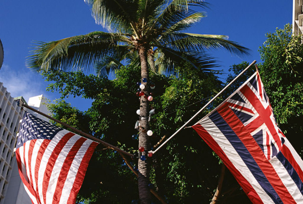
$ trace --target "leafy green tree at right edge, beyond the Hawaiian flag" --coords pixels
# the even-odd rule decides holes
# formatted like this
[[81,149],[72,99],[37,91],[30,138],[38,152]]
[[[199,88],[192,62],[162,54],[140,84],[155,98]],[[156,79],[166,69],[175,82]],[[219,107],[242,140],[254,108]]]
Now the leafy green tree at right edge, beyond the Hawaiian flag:
[[260,75],[274,109],[275,118],[291,144],[302,155],[303,45],[292,35],[291,25],[268,33],[259,52]]

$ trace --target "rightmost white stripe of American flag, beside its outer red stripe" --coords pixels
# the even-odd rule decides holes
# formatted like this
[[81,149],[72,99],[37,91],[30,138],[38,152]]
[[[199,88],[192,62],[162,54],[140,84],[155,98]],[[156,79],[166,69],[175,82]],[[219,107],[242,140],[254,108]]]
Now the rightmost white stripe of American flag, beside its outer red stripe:
[[[82,144],[81,148],[78,150],[75,159],[72,162],[72,165],[68,171],[68,175],[66,177],[63,189],[62,189],[62,194],[60,198],[59,204],[64,204],[67,203],[70,192],[72,190],[71,186],[73,186],[76,175],[79,170],[79,165],[81,164],[81,161],[83,159],[83,156],[85,155],[88,147],[91,145],[93,141],[92,140],[85,140],[85,142]],[[81,158],[81,160],[79,160]]]

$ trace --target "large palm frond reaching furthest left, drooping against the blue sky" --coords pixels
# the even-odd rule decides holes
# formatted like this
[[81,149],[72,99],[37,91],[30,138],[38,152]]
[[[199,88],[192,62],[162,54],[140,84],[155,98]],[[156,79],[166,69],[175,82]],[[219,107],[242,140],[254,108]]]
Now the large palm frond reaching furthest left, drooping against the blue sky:
[[26,65],[35,71],[47,71],[50,68],[87,70],[108,53],[115,52],[119,40],[125,39],[127,37],[122,34],[95,31],[58,41],[35,42]]

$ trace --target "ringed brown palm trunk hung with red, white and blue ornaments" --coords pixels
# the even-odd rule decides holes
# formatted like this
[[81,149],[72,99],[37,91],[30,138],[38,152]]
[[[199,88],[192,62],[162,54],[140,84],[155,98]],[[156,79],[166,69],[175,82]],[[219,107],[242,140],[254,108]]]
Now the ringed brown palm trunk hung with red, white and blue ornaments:
[[[139,48],[139,57],[141,61],[141,83],[145,85],[145,93],[148,94],[149,86],[147,82],[143,82],[143,78],[148,80],[148,61],[147,61],[147,48],[142,46]],[[149,171],[150,171],[150,160],[147,157],[147,151],[150,150],[151,144],[147,131],[149,129],[148,125],[148,114],[149,114],[149,104],[148,100],[142,96],[140,98],[140,132],[139,132],[139,147],[144,147],[144,152],[142,155],[145,155],[147,160],[142,161],[138,159],[138,188],[139,188],[139,199],[140,204],[150,204],[151,194],[148,187],[149,184]]]

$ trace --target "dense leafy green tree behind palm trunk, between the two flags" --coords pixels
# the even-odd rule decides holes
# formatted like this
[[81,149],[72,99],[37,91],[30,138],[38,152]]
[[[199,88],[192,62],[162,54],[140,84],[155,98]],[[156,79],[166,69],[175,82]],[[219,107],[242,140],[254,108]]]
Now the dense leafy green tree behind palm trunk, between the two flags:
[[[151,107],[160,110],[151,116],[150,126],[154,134],[150,139],[153,145],[183,125],[201,108],[201,104],[205,104],[205,98],[214,95],[222,87],[214,73],[193,71],[190,64],[185,63],[182,69],[177,68],[176,71],[178,77],[151,74],[151,80],[157,85]],[[52,104],[51,110],[57,119],[78,128],[84,124],[88,129],[86,131],[95,137],[136,153],[138,141],[132,140],[131,136],[138,133],[132,127],[138,120],[135,114],[138,97],[134,93],[140,68],[123,66],[116,71],[116,76],[111,81],[82,72],[48,72],[46,79],[55,81],[48,90],[61,93],[62,99],[82,96],[94,100],[92,107],[85,112],[78,111],[62,99]],[[200,117],[207,112],[205,110]],[[78,200],[88,203],[131,203],[138,197],[135,175],[118,154],[98,148],[88,166]],[[152,163],[150,182],[169,203],[209,202],[218,182],[219,160],[214,159],[211,149],[191,128],[182,130],[148,160]],[[131,163],[138,167],[136,161]],[[226,191],[225,203],[234,203],[232,196],[241,193],[232,176],[226,179],[223,190]],[[247,199],[245,194],[237,198],[240,201]]]

